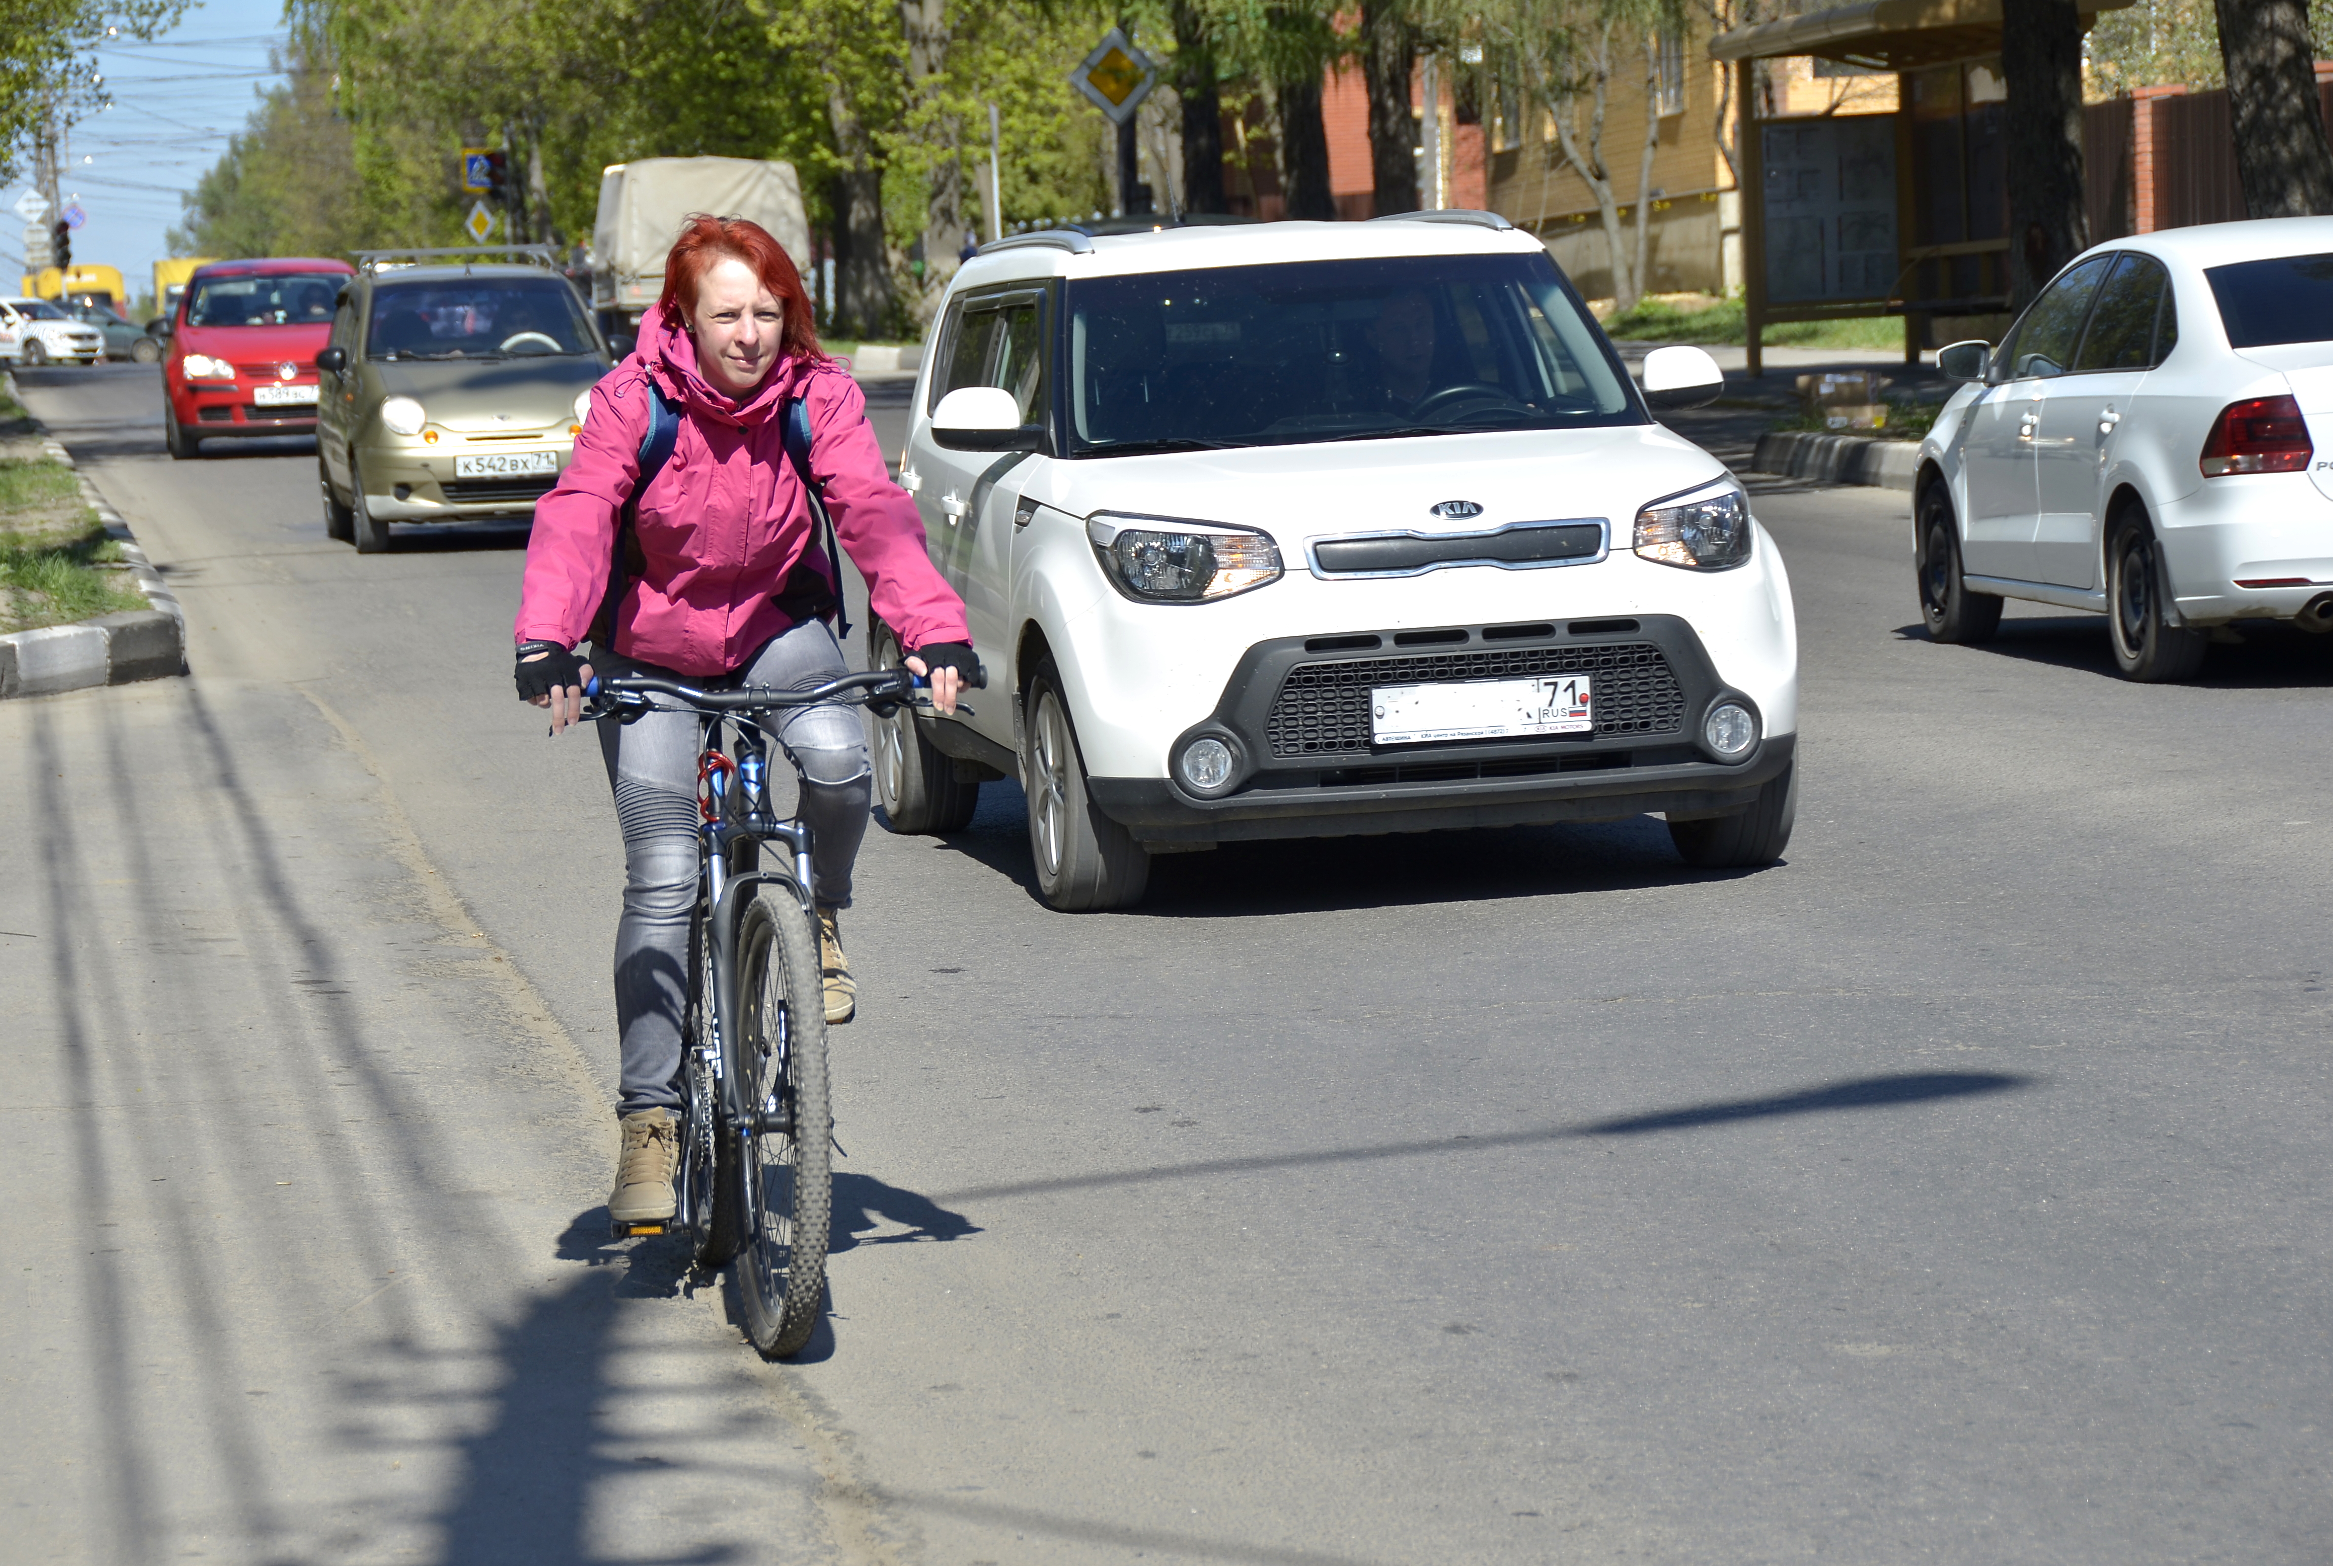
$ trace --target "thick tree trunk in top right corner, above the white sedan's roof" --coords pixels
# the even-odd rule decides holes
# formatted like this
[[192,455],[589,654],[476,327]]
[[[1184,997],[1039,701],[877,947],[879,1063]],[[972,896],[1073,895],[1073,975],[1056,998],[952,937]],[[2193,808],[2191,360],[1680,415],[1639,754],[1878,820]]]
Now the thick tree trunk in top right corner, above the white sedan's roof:
[[2333,212],[2307,0],[2214,0],[2247,217]]

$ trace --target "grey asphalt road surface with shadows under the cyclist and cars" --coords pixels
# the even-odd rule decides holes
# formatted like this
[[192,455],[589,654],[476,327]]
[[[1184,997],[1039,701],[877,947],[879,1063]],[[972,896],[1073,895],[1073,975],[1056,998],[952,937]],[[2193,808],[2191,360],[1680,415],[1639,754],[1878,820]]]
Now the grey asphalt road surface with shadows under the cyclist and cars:
[[194,677],[0,705],[21,1561],[2321,1561],[2333,644],[1915,630],[1764,490],[1789,861],[1652,819],[1027,889],[870,833],[833,1314],[607,1242],[618,854],[523,539],[26,376]]

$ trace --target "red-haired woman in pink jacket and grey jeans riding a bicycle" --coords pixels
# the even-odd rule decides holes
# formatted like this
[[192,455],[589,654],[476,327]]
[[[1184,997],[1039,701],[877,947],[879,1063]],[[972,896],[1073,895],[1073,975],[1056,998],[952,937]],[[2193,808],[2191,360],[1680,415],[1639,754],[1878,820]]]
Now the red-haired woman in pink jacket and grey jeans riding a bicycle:
[[[574,462],[534,506],[516,628],[518,693],[551,707],[553,733],[579,721],[595,667],[709,688],[810,688],[847,672],[826,623],[842,576],[817,544],[810,495],[786,450],[796,399],[810,415],[810,474],[875,614],[915,649],[908,667],[931,674],[933,707],[954,709],[978,667],[964,600],[933,569],[915,502],[884,471],[859,383],[819,350],[810,294],[779,243],[744,219],[693,217],[665,261],[665,292],[642,320],[639,350],[593,387]],[[658,401],[679,427],[670,457],[642,483]],[[614,602],[602,607],[607,597]],[[586,635],[590,653],[581,656]],[[600,723],[625,868],[616,1223],[656,1223],[674,1209],[698,894],[698,723],[688,712]],[[838,913],[852,903],[852,861],[868,824],[866,735],[852,709],[819,705],[789,712],[777,737],[800,763],[800,812],[812,826],[826,1020],[849,1022],[856,985]]]

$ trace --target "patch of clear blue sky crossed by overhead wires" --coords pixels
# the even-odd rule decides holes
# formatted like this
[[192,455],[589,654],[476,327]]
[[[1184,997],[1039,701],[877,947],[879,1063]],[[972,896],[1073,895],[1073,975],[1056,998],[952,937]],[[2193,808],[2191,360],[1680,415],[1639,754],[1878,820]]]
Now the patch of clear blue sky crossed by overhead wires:
[[[226,152],[259,93],[282,77],[268,72],[268,49],[285,37],[282,0],[201,0],[177,28],[152,44],[112,44],[98,54],[114,107],[68,133],[58,189],[79,194],[89,222],[72,236],[72,259],[119,266],[131,294],[154,287],[154,261],[180,215],[180,191]],[[0,205],[14,203],[26,180]],[[0,224],[0,254],[21,261],[16,217]],[[14,278],[9,280],[14,285]]]

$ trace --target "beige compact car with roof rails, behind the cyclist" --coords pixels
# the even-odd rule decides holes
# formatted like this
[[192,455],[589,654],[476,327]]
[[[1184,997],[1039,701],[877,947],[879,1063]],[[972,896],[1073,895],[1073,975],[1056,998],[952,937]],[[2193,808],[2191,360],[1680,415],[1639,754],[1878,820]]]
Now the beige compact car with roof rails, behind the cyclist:
[[366,555],[390,523],[532,518],[614,369],[548,266],[408,254],[422,264],[357,257],[315,357],[324,532]]

